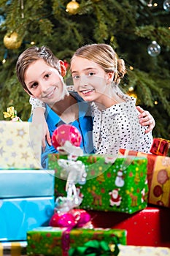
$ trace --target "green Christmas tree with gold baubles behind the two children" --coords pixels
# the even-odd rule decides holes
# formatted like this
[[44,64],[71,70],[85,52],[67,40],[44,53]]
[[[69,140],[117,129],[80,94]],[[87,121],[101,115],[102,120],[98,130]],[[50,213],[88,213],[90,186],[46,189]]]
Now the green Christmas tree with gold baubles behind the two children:
[[169,12],[170,0],[0,0],[0,119],[10,105],[23,121],[30,115],[15,73],[23,50],[47,45],[67,65],[80,46],[104,42],[125,60],[123,91],[155,118],[154,137],[169,139]]

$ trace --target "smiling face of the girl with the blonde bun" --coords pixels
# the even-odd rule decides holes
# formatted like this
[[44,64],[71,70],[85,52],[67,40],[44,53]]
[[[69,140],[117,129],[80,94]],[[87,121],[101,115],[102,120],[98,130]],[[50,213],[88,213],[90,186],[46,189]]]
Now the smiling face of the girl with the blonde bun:
[[71,63],[74,89],[85,101],[101,102],[107,94],[112,74],[107,73],[96,62],[75,56]]

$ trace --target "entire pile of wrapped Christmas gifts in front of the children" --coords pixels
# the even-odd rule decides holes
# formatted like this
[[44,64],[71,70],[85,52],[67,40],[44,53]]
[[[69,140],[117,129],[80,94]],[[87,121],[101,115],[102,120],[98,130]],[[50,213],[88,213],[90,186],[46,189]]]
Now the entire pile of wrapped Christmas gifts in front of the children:
[[[169,255],[169,157],[125,150],[117,158],[50,154],[48,170],[42,170],[37,127],[31,132],[27,122],[0,123],[1,244],[10,241],[16,250],[14,241],[27,241],[27,255]],[[78,208],[93,225],[51,227],[53,193],[66,197],[68,170],[77,162],[86,171],[84,181],[74,182],[82,198]]]

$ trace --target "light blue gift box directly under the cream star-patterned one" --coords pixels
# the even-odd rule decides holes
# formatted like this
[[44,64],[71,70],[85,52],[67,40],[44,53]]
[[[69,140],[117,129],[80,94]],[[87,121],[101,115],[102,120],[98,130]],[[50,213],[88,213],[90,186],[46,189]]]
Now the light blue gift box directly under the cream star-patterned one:
[[54,195],[53,170],[0,170],[0,198]]

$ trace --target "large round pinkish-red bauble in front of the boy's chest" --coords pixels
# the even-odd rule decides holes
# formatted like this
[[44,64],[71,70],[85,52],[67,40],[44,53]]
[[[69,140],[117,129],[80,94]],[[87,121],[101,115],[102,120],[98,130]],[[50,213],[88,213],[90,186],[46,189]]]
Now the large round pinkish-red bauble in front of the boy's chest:
[[57,149],[59,146],[63,146],[67,140],[78,147],[81,144],[82,136],[76,127],[70,124],[62,124],[53,132],[52,144]]

